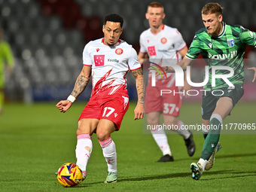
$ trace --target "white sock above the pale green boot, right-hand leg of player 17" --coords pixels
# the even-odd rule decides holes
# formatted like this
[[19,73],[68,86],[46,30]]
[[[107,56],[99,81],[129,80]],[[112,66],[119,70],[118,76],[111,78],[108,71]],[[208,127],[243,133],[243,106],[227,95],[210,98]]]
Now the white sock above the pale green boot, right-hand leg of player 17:
[[117,152],[113,140],[108,137],[102,142],[99,141],[99,144],[102,146],[103,156],[108,163],[108,172],[117,172]]

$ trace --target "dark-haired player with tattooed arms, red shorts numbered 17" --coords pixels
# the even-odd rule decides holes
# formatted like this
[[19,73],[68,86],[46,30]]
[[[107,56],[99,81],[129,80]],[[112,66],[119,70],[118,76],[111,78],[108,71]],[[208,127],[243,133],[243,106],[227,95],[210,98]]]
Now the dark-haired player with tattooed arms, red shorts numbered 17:
[[84,67],[78,75],[74,90],[68,99],[58,102],[56,107],[60,112],[66,112],[87,87],[92,76],[90,101],[78,120],[78,143],[75,149],[77,165],[85,178],[87,162],[93,150],[91,136],[96,133],[108,164],[105,183],[111,183],[117,181],[117,154],[111,133],[120,129],[129,106],[125,76],[130,70],[136,78],[138,102],[134,110],[135,120],[144,116],[144,82],[136,50],[119,39],[123,31],[123,18],[117,14],[108,14],[102,30],[104,38],[90,41],[84,47]]

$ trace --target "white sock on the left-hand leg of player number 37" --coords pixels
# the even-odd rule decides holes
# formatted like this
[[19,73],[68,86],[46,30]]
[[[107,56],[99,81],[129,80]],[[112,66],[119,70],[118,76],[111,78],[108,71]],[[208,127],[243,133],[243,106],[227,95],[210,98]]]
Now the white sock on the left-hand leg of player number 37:
[[172,156],[171,149],[169,148],[168,139],[164,130],[151,130],[154,141],[157,142],[158,147],[163,152],[163,155],[169,154]]

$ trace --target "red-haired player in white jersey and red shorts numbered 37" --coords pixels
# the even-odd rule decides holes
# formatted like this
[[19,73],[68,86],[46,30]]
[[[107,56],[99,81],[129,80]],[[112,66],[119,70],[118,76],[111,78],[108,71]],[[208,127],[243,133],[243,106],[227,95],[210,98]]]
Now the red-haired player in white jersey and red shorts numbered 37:
[[[139,38],[139,62],[143,64],[145,59],[149,59],[150,62],[161,66],[163,62],[176,63],[183,58],[187,53],[187,45],[177,29],[163,24],[165,17],[163,5],[152,2],[148,5],[145,16],[150,28],[142,32]],[[183,136],[187,146],[187,153],[189,156],[193,156],[195,145],[192,133],[181,129],[183,122],[177,118],[181,108],[181,95],[163,94],[161,96],[160,94],[161,90],[172,90],[172,93],[174,91],[178,93],[178,87],[175,87],[175,75],[167,74],[166,79],[162,79],[160,75],[155,78],[155,86],[152,86],[152,75],[149,74],[145,93],[145,113],[147,114],[148,124],[152,128],[154,127],[154,129],[151,129],[152,136],[163,152],[163,157],[158,162],[173,161],[165,131],[155,129],[157,125],[160,125],[161,113],[163,113],[163,123],[165,125],[176,125],[178,127],[177,131]],[[184,90],[189,89],[190,86],[185,84]]]

